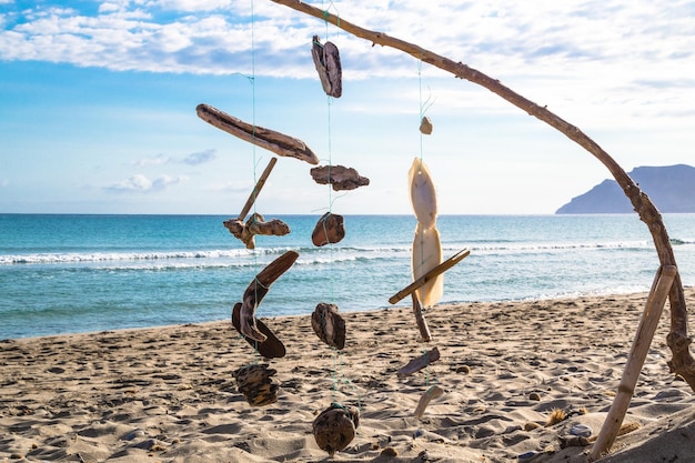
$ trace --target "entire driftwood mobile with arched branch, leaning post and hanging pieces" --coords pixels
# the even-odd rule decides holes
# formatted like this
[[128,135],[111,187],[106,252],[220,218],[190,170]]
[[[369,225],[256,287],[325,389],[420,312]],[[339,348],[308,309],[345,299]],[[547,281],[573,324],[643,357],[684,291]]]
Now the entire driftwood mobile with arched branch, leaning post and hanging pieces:
[[[673,354],[667,364],[672,373],[685,380],[691,389],[695,391],[695,360],[689,352],[692,340],[687,332],[687,311],[683,283],[678,274],[666,227],[664,225],[661,213],[646,193],[641,191],[634,180],[607,152],[578,128],[548,111],[547,108],[527,100],[503,85],[498,80],[472,69],[466,64],[455,62],[416,44],[389,37],[385,33],[363,29],[329,11],[318,9],[300,0],[272,1],[315,17],[357,38],[369,40],[373,44],[401,50],[417,60],[452,73],[455,78],[465,79],[486,88],[583,147],[611,171],[621,185],[632,202],[635,212],[637,212],[639,219],[647,225],[652,234],[659,260],[659,266],[656,271],[654,284],[635,334],[623,376],[617,386],[617,394],[598,436],[593,441],[594,446],[588,455],[590,461],[600,459],[608,451],[617,436],[666,299],[668,299],[671,305],[671,331],[667,335],[667,344]],[[314,36],[312,57],[316,70],[319,71],[323,90],[328,95],[339,98],[342,94],[342,82],[338,48],[330,42],[321,44],[319,38]],[[207,104],[198,107],[198,114],[201,119],[219,129],[265,148],[278,155],[294,157],[311,164],[319,163],[316,155],[300,140],[258,125],[248,124]],[[432,132],[431,122],[426,118],[422,120],[421,131],[425,134]],[[260,214],[252,214],[248,222],[243,222],[273,165],[274,159],[266,168],[261,180],[259,180],[242,213],[236,219],[224,223],[224,225],[250,249],[253,249],[254,234],[289,233],[289,227],[285,224],[276,222],[271,224],[273,221],[265,222]],[[333,178],[332,174],[336,177]],[[348,190],[369,184],[369,180],[362,178],[354,169],[344,167],[328,165],[324,168],[315,168],[315,170],[312,169],[312,177],[318,183],[329,183],[332,184],[334,189]],[[412,296],[417,326],[423,341],[427,342],[431,335],[426,321],[421,312],[420,304],[423,303],[426,306],[439,300],[442,291],[442,273],[469,255],[469,251],[463,250],[442,262],[439,232],[436,231],[435,224],[436,200],[429,171],[422,160],[415,159],[413,162],[410,172],[410,181],[411,200],[415,217],[417,218],[415,240],[413,241],[414,281],[407,288],[392,296],[390,302],[395,303],[406,295]],[[341,184],[343,187],[340,187]],[[323,245],[335,243],[343,236],[344,229],[342,217],[329,213],[320,219],[312,239],[315,245]],[[272,262],[266,269],[259,273],[256,279],[249,285],[249,289],[243,294],[243,302],[234,306],[232,316],[234,326],[255,346],[259,353],[269,359],[283,356],[284,346],[272,334],[268,326],[255,319],[254,311],[263,295],[268,292],[270,284],[288,270],[295,259],[295,253],[292,254],[292,251],[290,251],[288,255],[282,255]],[[427,262],[427,264],[421,265],[422,262]],[[323,303],[319,304],[316,312],[312,315],[312,328],[323,342],[331,346],[342,349],[345,339],[345,324],[335,306]],[[401,369],[399,374],[410,374],[411,372],[426,366],[427,362],[433,361],[434,358],[439,358],[436,348],[427,354],[429,359],[427,355],[425,355],[421,359],[413,360]],[[276,400],[275,394],[278,386],[272,383],[271,379],[275,371],[269,370],[266,366],[268,365],[251,365],[238,371],[236,380],[240,385],[240,391],[243,390],[242,392],[246,395],[249,403],[252,405],[263,405]],[[423,394],[415,414],[417,416],[422,415],[427,402],[441,394],[442,391],[437,387],[427,390]],[[354,430],[357,424],[359,412],[356,409],[333,404],[314,421],[314,436],[319,446],[326,450],[332,455],[334,452],[343,450],[354,437]],[[586,441],[586,444],[587,443],[588,441]]]

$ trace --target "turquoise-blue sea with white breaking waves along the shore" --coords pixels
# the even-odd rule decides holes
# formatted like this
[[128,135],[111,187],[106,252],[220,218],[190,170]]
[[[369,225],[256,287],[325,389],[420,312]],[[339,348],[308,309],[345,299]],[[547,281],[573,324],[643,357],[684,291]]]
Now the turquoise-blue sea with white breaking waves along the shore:
[[[229,319],[268,263],[294,265],[258,316],[387,309],[411,281],[413,215],[346,215],[345,239],[316,248],[319,215],[278,215],[284,236],[248,250],[222,215],[0,214],[0,339]],[[695,214],[665,214],[684,285],[695,284]],[[648,291],[658,259],[636,214],[443,215],[440,303]],[[396,305],[409,305],[406,298]]]

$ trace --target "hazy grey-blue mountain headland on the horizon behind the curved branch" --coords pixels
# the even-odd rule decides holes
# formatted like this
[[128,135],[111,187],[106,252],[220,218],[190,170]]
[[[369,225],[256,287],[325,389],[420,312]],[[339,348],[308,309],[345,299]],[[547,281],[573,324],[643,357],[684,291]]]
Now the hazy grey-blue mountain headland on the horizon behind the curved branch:
[[[695,168],[685,164],[639,167],[629,172],[659,212],[695,212]],[[632,203],[615,180],[604,180],[573,198],[556,214],[633,212]]]

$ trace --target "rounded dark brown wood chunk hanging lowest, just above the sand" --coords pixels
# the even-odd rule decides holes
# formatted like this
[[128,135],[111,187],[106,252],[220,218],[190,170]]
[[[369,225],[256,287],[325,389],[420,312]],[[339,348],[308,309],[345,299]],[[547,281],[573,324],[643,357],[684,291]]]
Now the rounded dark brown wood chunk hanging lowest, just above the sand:
[[360,425],[360,411],[355,406],[332,403],[312,423],[319,449],[333,456],[345,449],[355,436]]

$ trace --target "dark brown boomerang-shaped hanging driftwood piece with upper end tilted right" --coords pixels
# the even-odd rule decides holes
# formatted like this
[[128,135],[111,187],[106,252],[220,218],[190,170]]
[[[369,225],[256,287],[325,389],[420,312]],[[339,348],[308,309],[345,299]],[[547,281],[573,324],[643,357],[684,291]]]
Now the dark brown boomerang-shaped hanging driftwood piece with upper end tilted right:
[[271,263],[259,273],[246,291],[244,291],[243,302],[239,311],[239,326],[240,332],[246,338],[263,342],[268,339],[265,334],[259,331],[255,324],[255,309],[259,306],[270,285],[280,278],[289,268],[292,266],[296,258],[299,258],[294,251],[288,251]]

